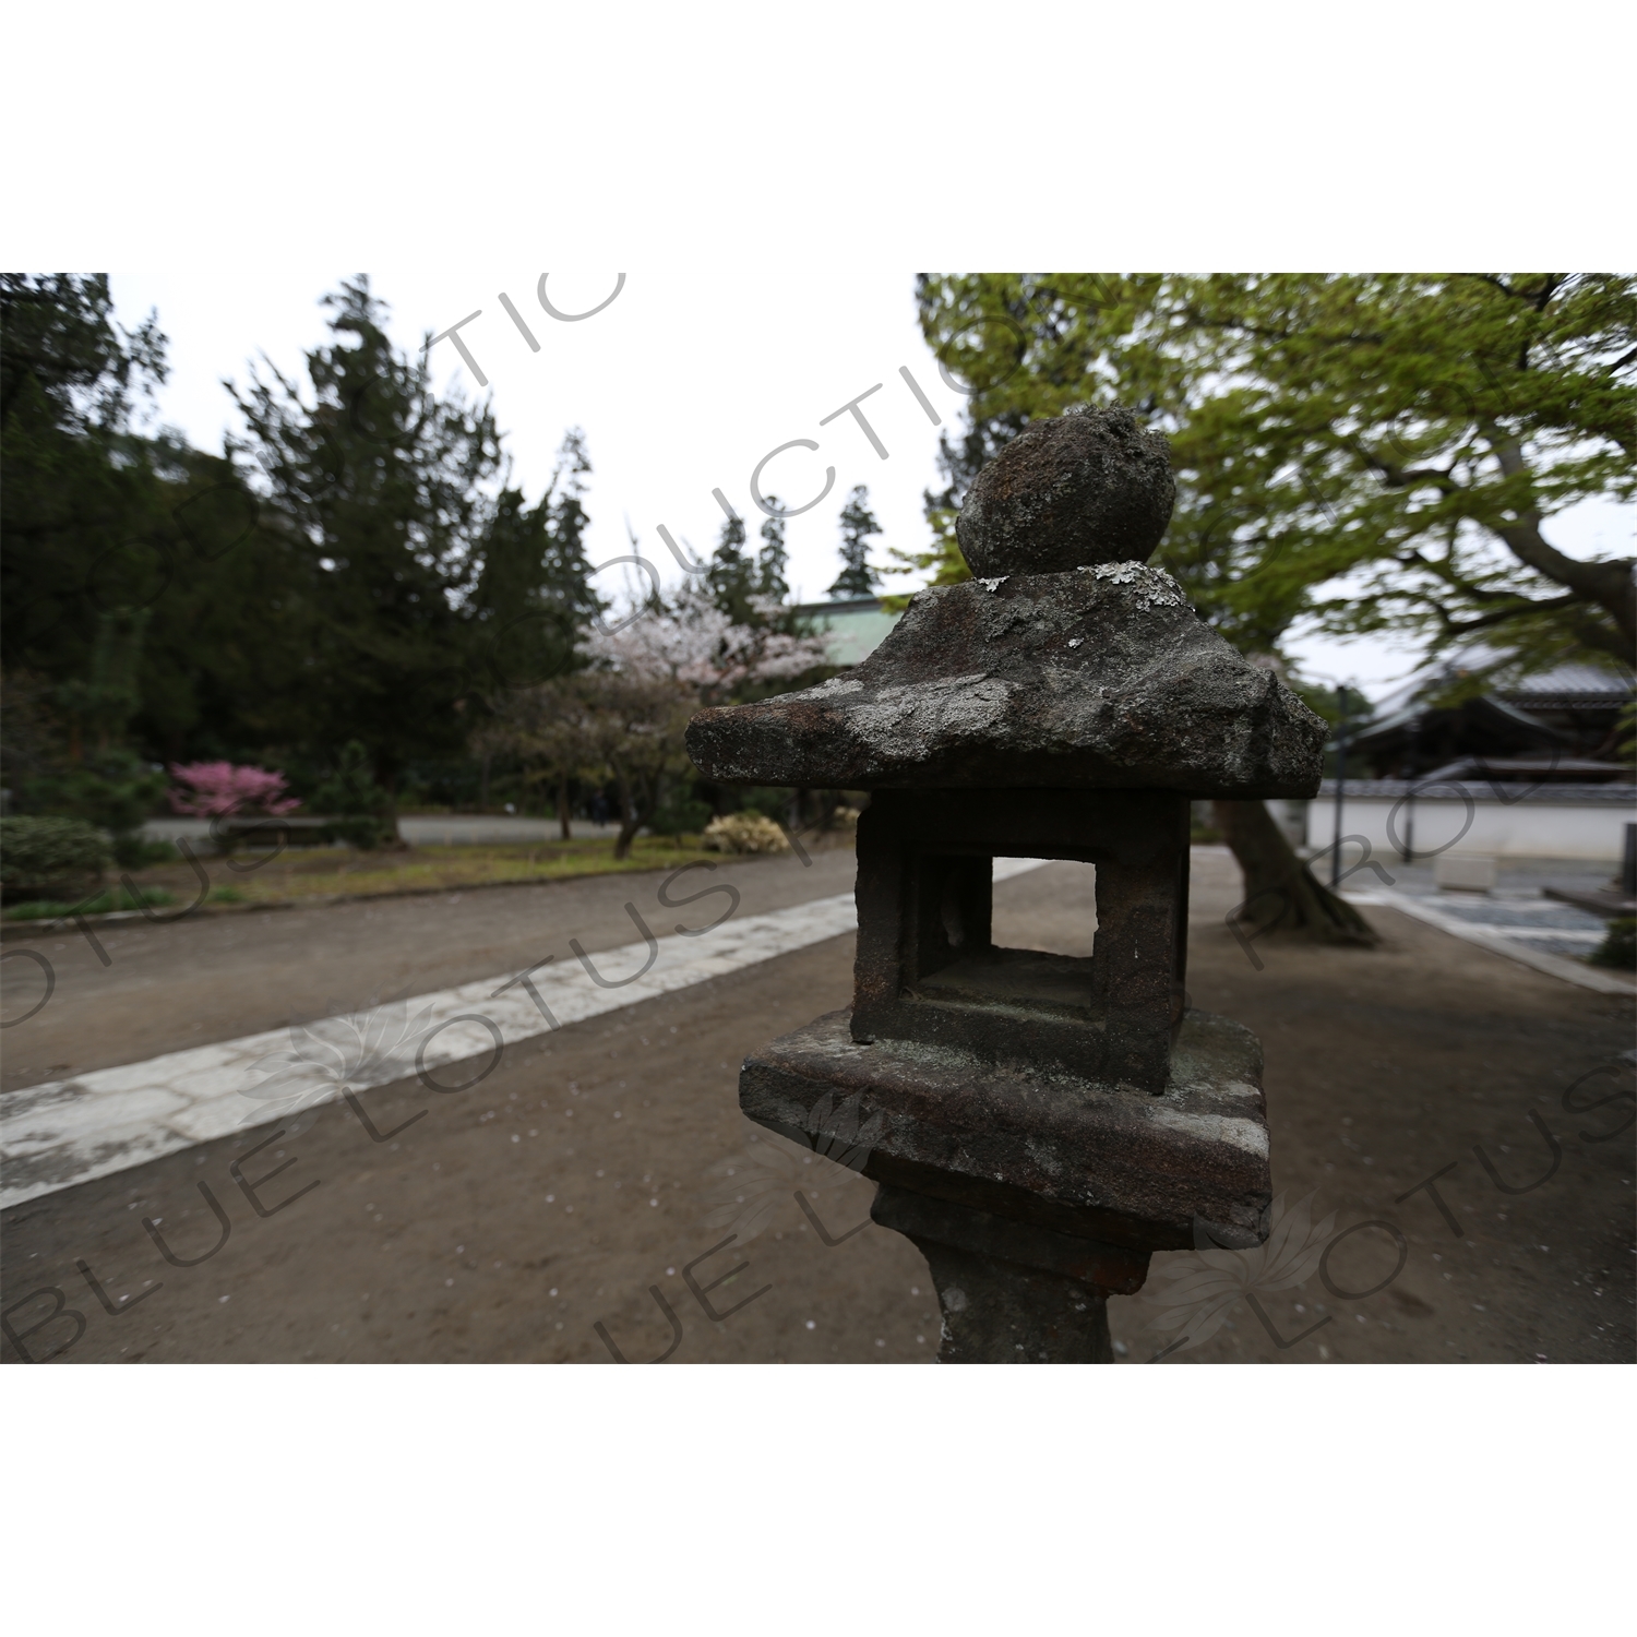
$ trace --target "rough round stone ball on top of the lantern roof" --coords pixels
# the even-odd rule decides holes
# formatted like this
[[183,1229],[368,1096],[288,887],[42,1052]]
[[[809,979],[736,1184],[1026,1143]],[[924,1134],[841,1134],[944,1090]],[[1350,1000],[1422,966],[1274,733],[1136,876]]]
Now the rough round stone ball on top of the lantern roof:
[[1007,444],[974,478],[956,535],[979,579],[1146,561],[1175,496],[1166,435],[1130,409],[1085,406]]

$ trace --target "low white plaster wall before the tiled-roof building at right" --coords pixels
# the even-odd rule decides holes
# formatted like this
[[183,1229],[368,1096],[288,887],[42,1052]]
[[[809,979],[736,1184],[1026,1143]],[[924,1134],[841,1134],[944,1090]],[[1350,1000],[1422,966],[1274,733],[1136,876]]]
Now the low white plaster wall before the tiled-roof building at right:
[[[1380,796],[1347,796],[1342,835],[1362,835],[1377,856],[1400,855],[1408,804]],[[1472,817],[1467,825],[1468,814]],[[1391,817],[1393,837],[1388,837]],[[1495,858],[1586,858],[1617,864],[1626,845],[1626,825],[1637,809],[1624,805],[1557,805],[1554,802],[1478,800],[1472,805],[1447,796],[1418,796],[1414,802],[1414,851]],[[1336,802],[1321,797],[1308,805],[1308,846],[1328,848],[1334,840]],[[1462,828],[1465,833],[1462,835]],[[1457,840],[1459,838],[1459,840]]]

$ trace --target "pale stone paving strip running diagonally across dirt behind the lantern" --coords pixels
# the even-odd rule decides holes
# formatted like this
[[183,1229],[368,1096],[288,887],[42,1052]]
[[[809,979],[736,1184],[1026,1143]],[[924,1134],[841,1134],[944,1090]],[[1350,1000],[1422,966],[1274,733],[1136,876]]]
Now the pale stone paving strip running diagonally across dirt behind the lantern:
[[[994,879],[1043,863],[997,858]],[[301,1092],[301,1108],[318,1107],[340,1090],[362,1092],[493,1058],[496,1031],[512,1046],[856,927],[853,894],[841,892],[730,920],[697,936],[673,935],[653,946],[630,943],[584,958],[560,954],[527,974],[503,972],[368,1012],[29,1085],[0,1105],[0,1208],[293,1115],[291,1102],[273,1107],[265,1098],[275,1076],[283,1089]],[[437,1079],[453,1089],[470,1076],[457,1071]],[[264,1097],[252,1095],[257,1089]]]

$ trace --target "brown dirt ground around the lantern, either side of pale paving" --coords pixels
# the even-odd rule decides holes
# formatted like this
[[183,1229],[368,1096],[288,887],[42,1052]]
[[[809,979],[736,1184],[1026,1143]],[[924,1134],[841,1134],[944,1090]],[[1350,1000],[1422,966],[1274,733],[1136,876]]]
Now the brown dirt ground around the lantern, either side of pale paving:
[[[1087,876],[1051,864],[1002,882],[997,938],[1087,948]],[[750,913],[843,891],[851,859],[745,863],[735,879]],[[1391,1224],[1336,1244],[1326,1274],[1337,1290],[1393,1272],[1393,1229],[1403,1267],[1357,1300],[1311,1274],[1264,1283],[1265,1324],[1239,1300],[1208,1341],[1164,1362],[1630,1362],[1632,1130],[1598,1138],[1630,1120],[1630,1067],[1616,1059],[1632,1043],[1632,1003],[1390,910],[1370,912],[1380,949],[1260,943],[1259,969],[1223,927],[1236,889],[1231,859],[1198,850],[1188,987],[1195,1005],[1262,1036],[1275,1192],[1295,1203],[1316,1190],[1315,1215],[1337,1213],[1336,1229]],[[588,948],[624,943],[622,904],[642,892],[652,882],[627,876],[300,910],[254,917],[275,940],[254,946],[223,923],[182,923],[110,943],[106,972],[62,951],[75,981],[33,1043],[8,1041],[13,1061],[33,1064],[16,1077],[8,1064],[8,1084],[59,1061],[128,1062],[324,1015],[342,992],[355,1003],[488,976],[576,927]],[[925,1262],[892,1233],[853,1231],[868,1223],[871,1184],[832,1169],[802,1187],[800,1157],[750,1143],[735,1105],[742,1056],[846,1005],[850,985],[851,940],[837,938],[514,1048],[468,1092],[370,1092],[381,1131],[426,1110],[380,1144],[345,1108],[326,1108],[244,1161],[259,1206],[229,1167],[270,1131],[16,1206],[0,1223],[5,1305],[23,1303],[8,1323],[36,1354],[72,1342],[64,1362],[609,1362],[611,1347],[634,1362],[666,1349],[678,1364],[930,1360]],[[1531,1112],[1562,1151],[1539,1182],[1552,1152]],[[1436,1172],[1457,1231],[1427,1192],[1400,1200]],[[719,1249],[740,1179],[766,1220],[743,1247]],[[201,1187],[231,1223],[219,1252]],[[144,1216],[196,1265],[162,1262]],[[1156,1257],[1156,1274],[1192,1254]],[[77,1339],[67,1311],[28,1333],[52,1311],[56,1298],[33,1295],[49,1287],[83,1316]],[[1126,1362],[1198,1328],[1156,1328],[1166,1308],[1146,1298],[1166,1288],[1151,1277],[1110,1303]],[[10,1342],[3,1355],[15,1362]]]

